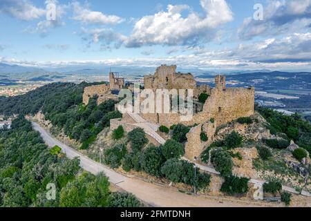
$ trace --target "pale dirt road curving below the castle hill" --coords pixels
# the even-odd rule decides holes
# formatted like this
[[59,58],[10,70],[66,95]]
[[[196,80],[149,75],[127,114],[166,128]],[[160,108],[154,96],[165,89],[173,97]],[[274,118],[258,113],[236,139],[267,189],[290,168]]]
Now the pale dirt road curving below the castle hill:
[[145,182],[137,177],[127,177],[117,173],[108,167],[99,164],[88,157],[82,155],[75,149],[70,148],[66,144],[56,140],[50,133],[44,130],[39,124],[32,122],[32,126],[36,131],[39,131],[41,137],[44,139],[48,146],[55,145],[62,148],[69,159],[79,157],[80,166],[93,174],[100,173],[101,171],[109,177],[111,183],[119,186],[126,192],[133,193],[140,200],[147,202],[150,206],[162,207],[236,207],[236,206],[279,206],[278,204],[266,204],[263,202],[245,201],[245,200],[232,200],[228,198],[218,198],[205,195],[188,195],[180,193],[176,189],[169,186],[161,186],[150,182]]

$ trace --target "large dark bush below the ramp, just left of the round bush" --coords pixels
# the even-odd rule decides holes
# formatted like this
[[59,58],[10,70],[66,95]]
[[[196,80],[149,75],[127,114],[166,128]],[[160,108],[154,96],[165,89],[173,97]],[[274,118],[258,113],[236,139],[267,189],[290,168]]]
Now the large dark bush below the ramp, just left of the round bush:
[[155,177],[161,176],[161,166],[165,162],[160,148],[150,145],[144,150],[141,157],[142,170]]

